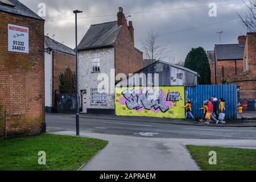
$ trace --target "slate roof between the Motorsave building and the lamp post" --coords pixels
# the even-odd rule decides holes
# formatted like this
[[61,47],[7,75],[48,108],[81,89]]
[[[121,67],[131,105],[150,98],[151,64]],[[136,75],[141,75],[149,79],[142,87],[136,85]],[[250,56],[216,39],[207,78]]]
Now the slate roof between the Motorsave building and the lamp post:
[[59,42],[56,40],[53,40],[49,38],[48,36],[44,36],[44,48],[45,49],[53,49],[55,51],[67,53],[69,55],[76,55],[75,51]]

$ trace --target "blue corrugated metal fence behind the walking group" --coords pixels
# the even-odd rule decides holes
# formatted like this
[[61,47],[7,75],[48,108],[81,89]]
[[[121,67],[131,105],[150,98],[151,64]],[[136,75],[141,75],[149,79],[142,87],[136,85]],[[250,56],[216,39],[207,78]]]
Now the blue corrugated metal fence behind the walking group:
[[192,101],[192,114],[196,118],[203,116],[203,102],[207,98],[216,96],[218,100],[224,98],[226,101],[226,119],[237,119],[237,85],[197,85],[186,87],[186,99]]

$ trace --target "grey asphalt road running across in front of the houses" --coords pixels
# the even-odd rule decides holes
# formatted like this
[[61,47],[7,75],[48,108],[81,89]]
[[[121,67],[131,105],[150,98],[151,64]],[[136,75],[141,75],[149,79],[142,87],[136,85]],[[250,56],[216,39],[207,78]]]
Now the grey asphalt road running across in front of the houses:
[[[76,130],[75,115],[47,114],[47,131]],[[201,127],[146,121],[123,121],[108,117],[80,118],[80,130],[91,133],[151,138],[256,139],[256,127]]]

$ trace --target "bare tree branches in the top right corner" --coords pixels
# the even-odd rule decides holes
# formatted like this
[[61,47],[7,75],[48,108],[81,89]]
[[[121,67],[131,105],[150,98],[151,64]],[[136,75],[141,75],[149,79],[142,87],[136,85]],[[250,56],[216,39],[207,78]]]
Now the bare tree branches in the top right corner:
[[256,0],[248,0],[248,2],[250,5],[247,5],[246,2],[243,1],[249,9],[249,11],[245,13],[245,17],[243,18],[240,14],[237,14],[240,18],[240,22],[243,26],[247,27],[249,32],[256,32]]

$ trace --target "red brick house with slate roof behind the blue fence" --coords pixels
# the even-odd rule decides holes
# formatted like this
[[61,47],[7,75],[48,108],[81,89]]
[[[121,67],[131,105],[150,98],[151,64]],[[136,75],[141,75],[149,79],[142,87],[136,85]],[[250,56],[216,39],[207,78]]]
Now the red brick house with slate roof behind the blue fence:
[[212,84],[236,84],[238,100],[256,100],[256,33],[238,37],[238,44],[208,51]]

